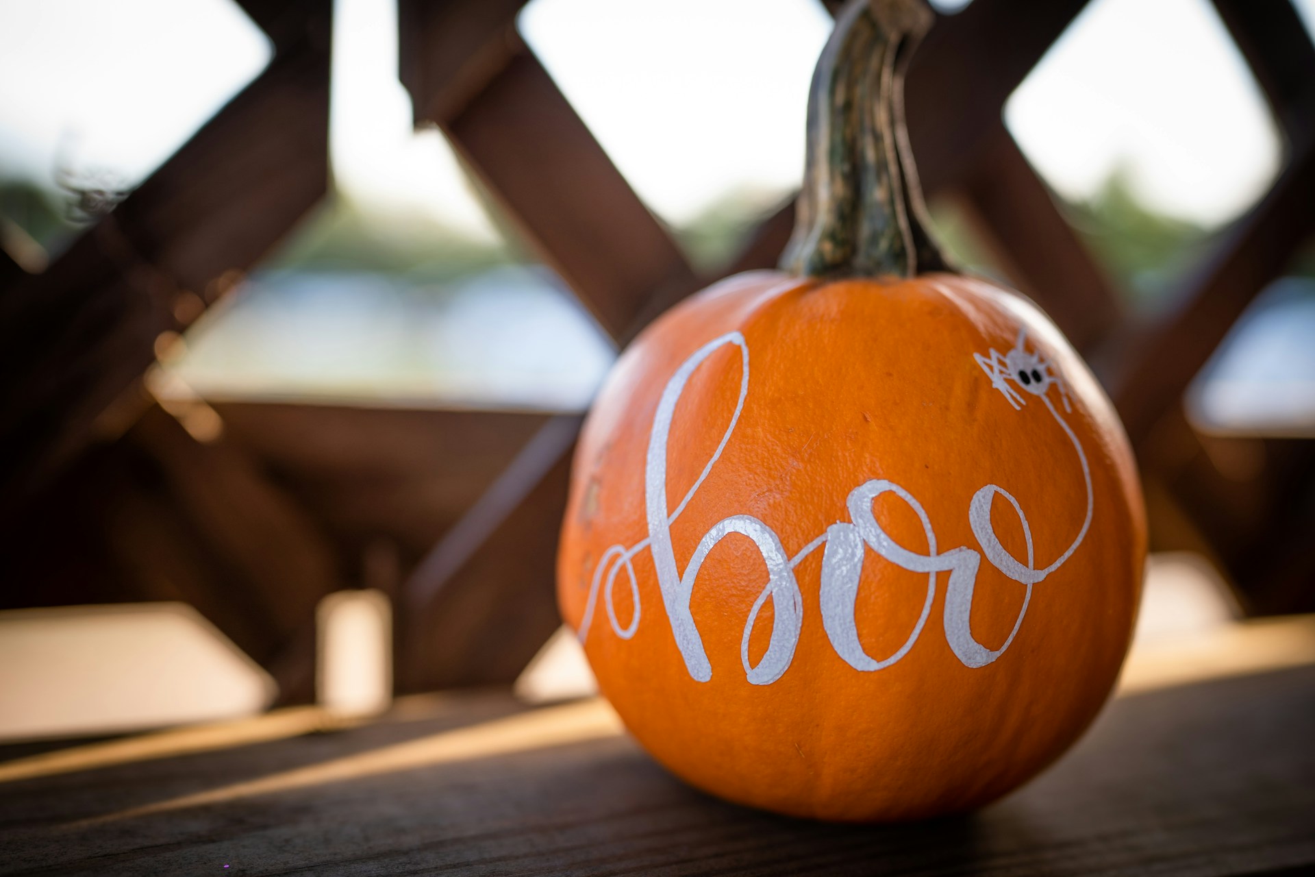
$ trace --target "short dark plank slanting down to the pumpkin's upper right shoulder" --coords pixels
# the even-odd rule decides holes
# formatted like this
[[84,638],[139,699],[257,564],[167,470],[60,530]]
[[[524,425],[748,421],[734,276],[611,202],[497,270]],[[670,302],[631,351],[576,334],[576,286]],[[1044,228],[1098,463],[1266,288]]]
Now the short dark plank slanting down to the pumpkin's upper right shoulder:
[[1109,279],[999,118],[980,141],[960,191],[980,237],[1074,347],[1090,351],[1122,325]]

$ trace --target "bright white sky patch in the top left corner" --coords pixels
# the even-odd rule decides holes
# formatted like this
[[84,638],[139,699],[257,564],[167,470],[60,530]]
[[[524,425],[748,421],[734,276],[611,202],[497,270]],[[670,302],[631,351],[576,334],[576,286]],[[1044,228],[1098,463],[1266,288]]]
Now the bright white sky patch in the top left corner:
[[0,0],[0,176],[138,183],[268,58],[230,0]]

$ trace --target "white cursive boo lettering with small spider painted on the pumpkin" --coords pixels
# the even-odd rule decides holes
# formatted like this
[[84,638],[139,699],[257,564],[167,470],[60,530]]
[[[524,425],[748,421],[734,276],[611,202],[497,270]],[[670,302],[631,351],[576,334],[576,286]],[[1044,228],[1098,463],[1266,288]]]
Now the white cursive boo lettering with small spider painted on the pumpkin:
[[[1053,366],[1041,359],[1036,352],[1026,348],[1026,335],[1022,330],[1018,342],[1009,354],[1001,355],[995,350],[989,356],[973,354],[974,360],[992,379],[992,385],[998,389],[1005,398],[1019,409],[1026,404],[1022,392],[1036,396],[1044,402],[1055,421],[1064,429],[1073,448],[1077,451],[1078,462],[1082,467],[1082,477],[1086,483],[1086,518],[1072,544],[1048,567],[1038,569],[1032,552],[1032,530],[1023,514],[1023,508],[1018,500],[1007,490],[994,484],[977,490],[969,502],[968,519],[973,535],[981,546],[981,552],[960,546],[945,552],[936,550],[936,534],[932,530],[931,519],[927,517],[922,504],[911,493],[893,481],[871,480],[860,484],[849,492],[846,502],[849,511],[849,523],[838,522],[827,527],[826,533],[806,544],[793,557],[788,556],[780,536],[768,525],[747,514],[734,514],[717,522],[700,539],[693,556],[680,572],[676,565],[676,555],[671,543],[671,526],[693,500],[694,493],[702,486],[709,473],[713,471],[722,451],[726,450],[735,425],[744,410],[744,400],[748,396],[748,344],[744,337],[738,333],[727,333],[714,338],[689,359],[681,363],[676,373],[667,381],[661,398],[658,401],[658,410],[654,414],[654,425],[648,437],[648,452],[644,462],[644,510],[648,522],[648,536],[629,548],[614,544],[609,547],[598,559],[594,567],[593,581],[589,588],[589,597],[585,602],[584,618],[580,622],[579,638],[584,642],[589,635],[593,622],[594,609],[598,601],[600,585],[602,586],[602,600],[608,611],[608,621],[611,630],[621,639],[631,639],[639,628],[640,601],[639,581],[633,564],[634,556],[650,550],[654,568],[658,572],[658,588],[661,593],[663,607],[667,610],[667,621],[671,625],[672,636],[685,661],[685,668],[690,677],[700,682],[706,682],[713,677],[713,668],[704,650],[704,640],[698,634],[689,605],[702,568],[709,552],[732,533],[747,536],[752,540],[767,564],[767,585],[753,602],[744,622],[744,632],[740,639],[740,663],[744,668],[746,678],[753,685],[769,685],[778,680],[790,667],[794,659],[794,648],[800,640],[800,630],[803,623],[803,601],[800,594],[800,585],[794,576],[794,568],[817,548],[826,546],[822,554],[822,577],[819,589],[819,604],[822,611],[822,626],[826,630],[831,647],[849,667],[861,672],[880,671],[899,661],[922,636],[923,627],[931,614],[931,606],[936,596],[936,575],[948,572],[945,584],[945,606],[943,626],[945,640],[951,650],[965,667],[985,667],[997,660],[1014,642],[1027,606],[1032,598],[1032,586],[1043,581],[1052,572],[1059,569],[1073,555],[1086,536],[1091,525],[1093,493],[1091,472],[1088,467],[1086,454],[1073,429],[1064,421],[1053,402],[1048,397],[1051,387],[1057,387],[1065,410],[1072,410],[1068,397],[1068,388],[1057,376]],[[721,442],[694,484],[681,498],[675,511],[667,509],[667,447],[671,438],[672,418],[676,413],[676,404],[680,401],[685,385],[694,371],[714,352],[722,347],[732,344],[740,351],[740,387],[739,398],[735,402],[735,412],[731,414],[726,431],[722,433]],[[1013,384],[1013,385],[1011,385]],[[1022,392],[1019,392],[1022,391]],[[923,535],[927,540],[926,554],[919,554],[897,543],[881,525],[877,523],[872,513],[872,504],[884,493],[893,493],[899,497],[922,522]],[[999,542],[990,511],[995,496],[1002,496],[1018,515],[1023,529],[1023,539],[1027,544],[1027,561],[1014,557]],[[907,569],[909,572],[927,573],[927,597],[922,606],[913,631],[903,644],[890,656],[874,659],[867,653],[859,640],[857,622],[855,621],[855,605],[859,596],[859,582],[863,573],[864,552],[871,548],[874,554],[889,563]],[[1009,579],[1026,586],[1023,605],[1018,611],[1018,618],[1005,643],[990,650],[977,642],[972,634],[972,605],[973,592],[977,584],[977,571],[982,556]],[[633,602],[630,623],[622,626],[617,618],[613,588],[621,571],[626,571],[630,584]],[[767,652],[755,665],[750,661],[748,643],[757,622],[759,611],[767,600],[772,600],[772,632],[768,640]]]

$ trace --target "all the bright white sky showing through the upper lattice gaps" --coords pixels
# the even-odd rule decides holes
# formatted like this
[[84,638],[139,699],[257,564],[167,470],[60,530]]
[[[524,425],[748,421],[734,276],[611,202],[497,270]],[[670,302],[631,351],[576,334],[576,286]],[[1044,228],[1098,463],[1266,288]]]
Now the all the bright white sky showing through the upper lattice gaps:
[[[1299,5],[1315,20],[1315,0]],[[442,138],[410,130],[393,4],[335,8],[339,185],[492,235]],[[797,184],[830,28],[817,0],[534,0],[521,26],[667,220]],[[230,0],[0,0],[0,174],[50,185],[71,160],[138,181],[268,51]],[[1244,209],[1279,164],[1258,89],[1207,0],[1093,0],[1006,116],[1061,193],[1088,196],[1124,166],[1153,206],[1205,224]]]

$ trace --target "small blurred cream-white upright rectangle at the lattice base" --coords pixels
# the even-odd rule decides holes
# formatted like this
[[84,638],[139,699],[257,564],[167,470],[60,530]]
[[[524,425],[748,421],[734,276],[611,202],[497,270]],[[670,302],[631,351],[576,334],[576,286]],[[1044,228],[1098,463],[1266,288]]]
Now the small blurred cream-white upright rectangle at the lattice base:
[[381,590],[339,590],[316,611],[316,698],[337,718],[377,715],[393,697],[392,606]]

